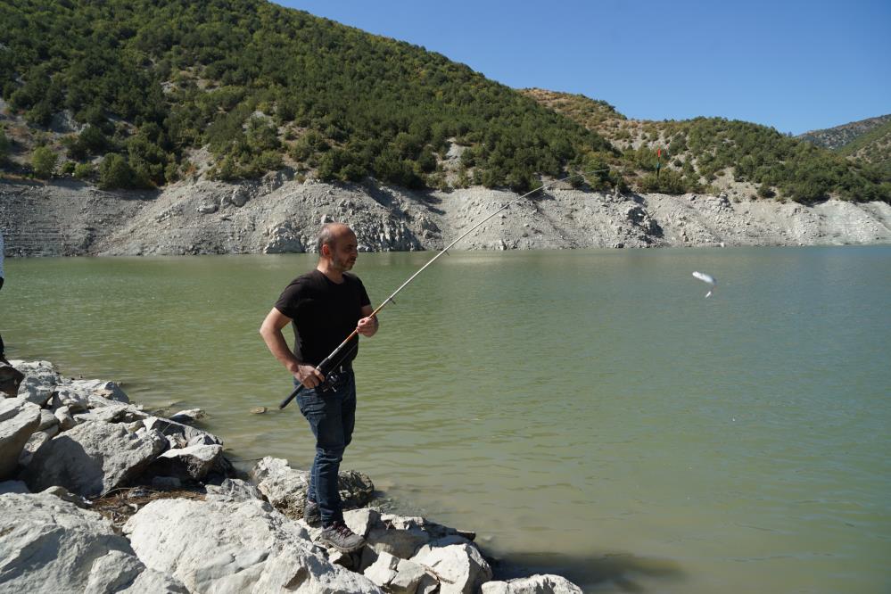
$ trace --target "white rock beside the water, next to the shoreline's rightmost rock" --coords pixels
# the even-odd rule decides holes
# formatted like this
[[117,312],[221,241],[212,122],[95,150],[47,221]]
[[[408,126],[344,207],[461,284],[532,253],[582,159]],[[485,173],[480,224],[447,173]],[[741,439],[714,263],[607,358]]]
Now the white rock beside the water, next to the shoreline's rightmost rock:
[[410,559],[440,576],[441,594],[471,594],[492,579],[492,570],[472,544],[425,545]]

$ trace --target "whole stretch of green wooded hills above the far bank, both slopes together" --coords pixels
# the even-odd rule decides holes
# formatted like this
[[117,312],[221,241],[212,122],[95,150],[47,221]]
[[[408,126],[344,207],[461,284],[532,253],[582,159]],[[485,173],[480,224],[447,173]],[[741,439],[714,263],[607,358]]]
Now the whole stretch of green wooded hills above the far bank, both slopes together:
[[585,169],[598,189],[680,194],[732,178],[765,197],[891,200],[884,169],[771,128],[627,120],[263,0],[12,0],[0,31],[7,176],[151,187],[291,167],[524,191]]

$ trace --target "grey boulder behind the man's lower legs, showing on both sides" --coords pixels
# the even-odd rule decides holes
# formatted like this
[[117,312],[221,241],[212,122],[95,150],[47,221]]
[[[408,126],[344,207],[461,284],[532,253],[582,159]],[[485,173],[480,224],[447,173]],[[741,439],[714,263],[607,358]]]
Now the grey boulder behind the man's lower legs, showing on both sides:
[[[309,472],[288,466],[282,458],[266,457],[252,469],[257,488],[276,509],[294,520],[303,517]],[[367,505],[374,496],[375,485],[366,474],[355,470],[341,471],[337,475],[338,491],[344,509]]]

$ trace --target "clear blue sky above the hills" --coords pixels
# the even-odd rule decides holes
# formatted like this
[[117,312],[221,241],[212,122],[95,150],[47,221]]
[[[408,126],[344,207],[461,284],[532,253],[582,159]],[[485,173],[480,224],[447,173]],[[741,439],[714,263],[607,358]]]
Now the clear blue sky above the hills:
[[800,134],[891,113],[891,0],[283,0],[516,88]]

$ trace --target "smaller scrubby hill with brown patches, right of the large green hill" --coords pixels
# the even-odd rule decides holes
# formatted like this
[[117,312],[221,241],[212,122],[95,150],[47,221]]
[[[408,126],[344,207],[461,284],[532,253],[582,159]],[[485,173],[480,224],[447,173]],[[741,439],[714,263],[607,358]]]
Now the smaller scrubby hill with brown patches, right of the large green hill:
[[723,118],[629,120],[583,95],[524,89],[621,152],[606,162],[643,192],[729,191],[738,196],[814,202],[891,201],[891,176],[869,162],[847,161],[813,144],[750,122]]

